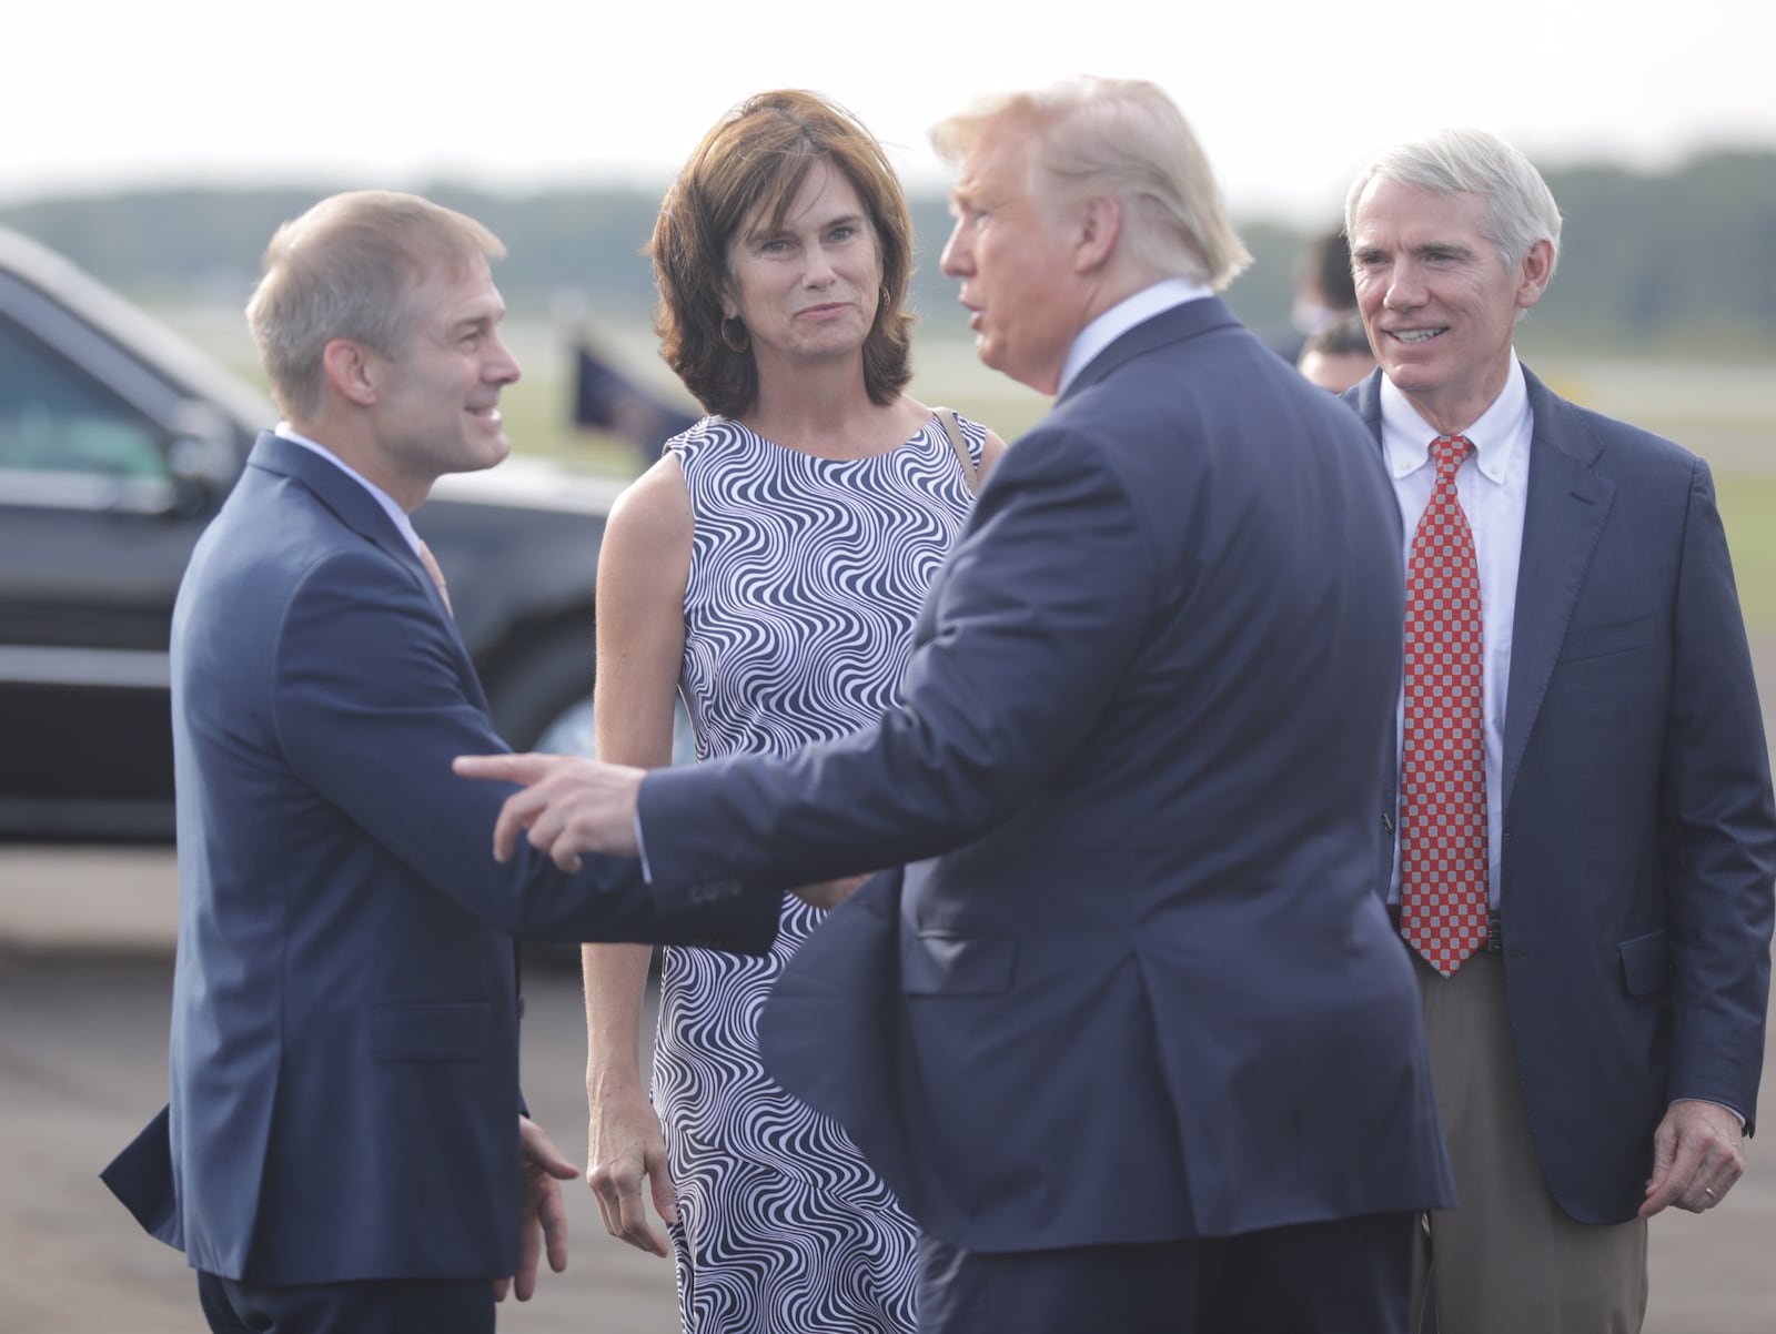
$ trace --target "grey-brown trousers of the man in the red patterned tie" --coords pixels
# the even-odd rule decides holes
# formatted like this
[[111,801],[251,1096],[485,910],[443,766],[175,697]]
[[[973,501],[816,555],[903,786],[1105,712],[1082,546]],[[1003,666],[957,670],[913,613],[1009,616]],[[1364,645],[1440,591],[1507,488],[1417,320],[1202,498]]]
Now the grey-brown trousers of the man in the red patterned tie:
[[1428,1268],[1437,1334],[1636,1334],[1646,1222],[1575,1222],[1549,1194],[1511,1046],[1504,956],[1476,954],[1453,977],[1419,959],[1417,975],[1460,1208],[1430,1215],[1412,1309]]

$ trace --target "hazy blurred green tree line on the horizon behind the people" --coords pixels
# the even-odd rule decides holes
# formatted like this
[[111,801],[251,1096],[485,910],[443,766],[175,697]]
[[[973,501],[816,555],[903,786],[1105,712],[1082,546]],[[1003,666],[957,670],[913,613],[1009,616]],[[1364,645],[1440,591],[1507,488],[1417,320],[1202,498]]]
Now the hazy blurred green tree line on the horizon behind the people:
[[[1565,215],[1559,272],[1524,325],[1531,350],[1764,361],[1776,352],[1776,151],[1701,153],[1659,172],[1579,165],[1547,172]],[[53,197],[0,208],[0,226],[60,250],[146,302],[243,304],[284,218],[332,188],[186,187]],[[563,295],[600,323],[648,318],[643,247],[659,192],[556,188],[499,194],[439,183],[423,194],[490,226],[510,247],[497,281],[515,311]],[[929,327],[961,334],[955,284],[938,272],[945,201],[913,201],[913,302]],[[1337,206],[1334,204],[1334,210]],[[1337,226],[1330,211],[1325,227]],[[1254,327],[1288,320],[1296,256],[1314,229],[1243,220],[1254,254],[1227,297]]]

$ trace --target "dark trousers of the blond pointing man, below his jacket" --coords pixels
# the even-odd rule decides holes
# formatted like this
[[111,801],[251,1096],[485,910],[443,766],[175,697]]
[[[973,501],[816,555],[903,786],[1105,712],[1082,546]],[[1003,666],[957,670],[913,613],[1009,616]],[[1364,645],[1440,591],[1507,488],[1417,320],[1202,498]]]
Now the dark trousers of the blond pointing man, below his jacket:
[[1241,1236],[963,1251],[920,1236],[920,1334],[1405,1334],[1414,1213]]

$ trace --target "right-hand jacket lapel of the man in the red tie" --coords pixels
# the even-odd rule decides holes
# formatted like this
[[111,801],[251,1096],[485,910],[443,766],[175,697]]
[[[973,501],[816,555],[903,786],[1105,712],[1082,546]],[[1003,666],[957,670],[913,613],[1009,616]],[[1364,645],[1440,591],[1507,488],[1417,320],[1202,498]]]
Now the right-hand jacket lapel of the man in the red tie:
[[1616,483],[1593,467],[1598,444],[1591,432],[1527,369],[1524,380],[1534,428],[1511,627],[1511,679],[1504,696],[1506,810],[1554,659],[1616,496]]

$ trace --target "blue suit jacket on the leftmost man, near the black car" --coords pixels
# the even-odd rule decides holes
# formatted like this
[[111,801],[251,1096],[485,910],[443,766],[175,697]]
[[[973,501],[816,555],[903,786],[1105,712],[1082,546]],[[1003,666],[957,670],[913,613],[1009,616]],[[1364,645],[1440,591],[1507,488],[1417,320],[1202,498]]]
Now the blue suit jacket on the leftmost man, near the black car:
[[272,435],[179,590],[172,728],[170,1103],[107,1181],[231,1279],[511,1274],[511,936],[762,950],[778,895],[659,913],[632,860],[497,865],[513,789],[449,769],[504,750],[455,622],[369,492]]

